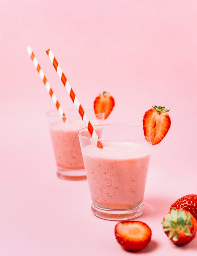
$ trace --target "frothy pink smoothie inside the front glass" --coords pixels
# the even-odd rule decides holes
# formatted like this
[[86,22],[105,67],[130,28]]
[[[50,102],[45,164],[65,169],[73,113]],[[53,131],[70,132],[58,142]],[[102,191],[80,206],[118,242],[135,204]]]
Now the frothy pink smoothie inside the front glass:
[[82,149],[93,203],[130,209],[143,202],[150,148],[136,143],[94,144]]

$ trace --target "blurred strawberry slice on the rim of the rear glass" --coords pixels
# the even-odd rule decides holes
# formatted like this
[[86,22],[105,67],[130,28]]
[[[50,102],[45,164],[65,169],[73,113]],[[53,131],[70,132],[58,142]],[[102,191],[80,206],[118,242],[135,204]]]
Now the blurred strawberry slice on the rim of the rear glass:
[[[109,93],[103,92],[103,94],[99,94],[94,101],[94,112],[95,114],[105,112],[104,119],[106,119],[113,110],[114,106],[115,101],[113,97]],[[99,117],[97,118],[100,119]]]

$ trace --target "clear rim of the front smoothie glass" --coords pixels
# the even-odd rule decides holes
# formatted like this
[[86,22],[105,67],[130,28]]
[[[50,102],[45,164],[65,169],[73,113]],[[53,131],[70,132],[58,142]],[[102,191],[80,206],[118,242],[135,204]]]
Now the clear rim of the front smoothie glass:
[[[111,126],[111,125],[124,125],[124,126],[130,126],[130,127],[141,127],[142,128],[142,130],[143,130],[143,126],[142,125],[140,125],[140,124],[124,124],[124,123],[109,123],[109,124],[96,124],[96,125],[93,125],[93,128],[95,128],[95,127],[98,127],[98,126]],[[149,135],[149,136],[143,136],[143,137],[136,137],[136,138],[134,138],[134,139],[120,139],[120,140],[115,140],[115,139],[94,139],[94,138],[92,138],[92,137],[87,137],[87,136],[85,136],[85,135],[81,135],[80,134],[80,132],[82,132],[83,130],[87,130],[88,131],[88,129],[87,129],[87,127],[84,127],[84,128],[82,128],[82,129],[80,129],[80,130],[78,130],[78,136],[79,137],[81,137],[81,138],[84,138],[84,139],[89,139],[89,140],[92,140],[92,141],[106,141],[106,142],[126,142],[126,141],[136,141],[136,140],[140,140],[140,139],[146,139],[146,141],[149,143],[149,144],[151,144],[151,140],[149,139],[150,137],[152,137],[152,134],[151,135]],[[150,142],[149,142],[150,141]]]

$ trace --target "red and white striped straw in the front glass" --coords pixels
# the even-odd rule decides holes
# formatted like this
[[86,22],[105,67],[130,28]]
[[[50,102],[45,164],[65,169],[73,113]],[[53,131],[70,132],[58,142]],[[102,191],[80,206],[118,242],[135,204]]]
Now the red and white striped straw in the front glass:
[[[93,139],[98,139],[98,135],[95,132],[89,118],[86,116],[86,113],[84,112],[84,109],[82,108],[80,102],[78,101],[77,97],[75,96],[75,93],[73,92],[73,89],[71,88],[71,85],[69,84],[69,81],[66,79],[66,76],[64,75],[60,65],[58,64],[58,61],[56,60],[55,56],[53,55],[53,52],[51,49],[46,51],[47,55],[49,56],[49,59],[51,63],[53,64],[53,67],[55,68],[56,72],[58,73],[58,76],[62,80],[62,83],[64,87],[66,88],[66,91],[68,92],[69,96],[71,97],[75,107],[77,108],[82,120],[84,121],[85,126],[87,127],[91,137]],[[103,148],[102,143],[100,141],[97,141],[97,147]]]

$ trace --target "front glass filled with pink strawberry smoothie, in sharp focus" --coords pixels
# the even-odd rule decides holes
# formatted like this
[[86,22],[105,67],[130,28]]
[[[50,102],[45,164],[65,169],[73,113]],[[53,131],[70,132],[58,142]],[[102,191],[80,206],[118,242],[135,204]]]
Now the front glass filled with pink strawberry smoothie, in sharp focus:
[[95,216],[107,220],[128,220],[144,211],[143,198],[152,144],[143,127],[101,124],[100,142],[79,130],[80,146]]

